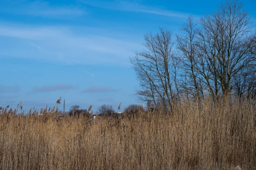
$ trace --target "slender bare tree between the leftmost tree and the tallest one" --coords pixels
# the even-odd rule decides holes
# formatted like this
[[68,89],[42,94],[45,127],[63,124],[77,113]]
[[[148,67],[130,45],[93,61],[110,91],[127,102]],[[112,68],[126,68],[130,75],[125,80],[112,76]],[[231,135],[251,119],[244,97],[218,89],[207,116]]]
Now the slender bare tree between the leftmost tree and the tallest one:
[[192,95],[194,97],[203,96],[203,87],[200,81],[200,75],[196,70],[198,63],[196,38],[198,36],[198,22],[193,17],[189,17],[187,22],[180,30],[183,32],[177,37],[177,49],[180,51],[180,68],[182,81],[182,88],[186,92],[186,96]]

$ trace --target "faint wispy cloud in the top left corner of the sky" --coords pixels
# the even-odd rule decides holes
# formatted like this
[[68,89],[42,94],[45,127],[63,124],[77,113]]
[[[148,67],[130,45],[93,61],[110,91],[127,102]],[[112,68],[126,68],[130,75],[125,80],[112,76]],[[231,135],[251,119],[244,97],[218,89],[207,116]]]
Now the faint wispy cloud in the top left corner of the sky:
[[44,0],[35,1],[10,1],[9,3],[0,3],[1,12],[8,14],[30,15],[40,17],[61,17],[78,16],[86,12],[76,6],[52,6]]

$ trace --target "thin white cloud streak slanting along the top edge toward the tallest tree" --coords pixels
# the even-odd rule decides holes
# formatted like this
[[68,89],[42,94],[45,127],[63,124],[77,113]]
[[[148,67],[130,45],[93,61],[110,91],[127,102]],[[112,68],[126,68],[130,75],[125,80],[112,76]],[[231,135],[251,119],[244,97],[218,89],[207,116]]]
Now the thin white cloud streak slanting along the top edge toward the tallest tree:
[[88,1],[88,0],[79,0],[79,2],[84,3],[87,6],[94,6],[99,8],[107,8],[118,11],[129,11],[129,12],[141,12],[148,14],[157,14],[168,17],[178,17],[178,18],[187,18],[189,14],[178,12],[178,11],[170,11],[162,8],[154,8],[149,6],[144,6],[138,3],[132,3],[128,1],[116,0],[112,2],[106,1]]

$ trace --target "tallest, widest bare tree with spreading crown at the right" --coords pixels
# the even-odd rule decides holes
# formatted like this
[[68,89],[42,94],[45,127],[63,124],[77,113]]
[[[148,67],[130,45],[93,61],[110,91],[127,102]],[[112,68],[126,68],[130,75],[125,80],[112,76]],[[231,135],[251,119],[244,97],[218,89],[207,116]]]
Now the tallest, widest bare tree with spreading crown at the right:
[[196,68],[214,99],[230,92],[231,81],[239,71],[255,67],[255,34],[251,34],[250,17],[242,7],[236,0],[227,0],[212,16],[200,20]]

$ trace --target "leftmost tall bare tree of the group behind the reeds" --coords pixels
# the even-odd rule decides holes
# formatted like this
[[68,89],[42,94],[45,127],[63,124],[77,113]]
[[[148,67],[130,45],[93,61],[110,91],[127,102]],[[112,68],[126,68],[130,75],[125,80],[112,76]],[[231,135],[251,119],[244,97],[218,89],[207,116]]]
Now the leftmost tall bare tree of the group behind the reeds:
[[147,50],[137,52],[130,57],[141,89],[137,91],[139,99],[144,102],[162,103],[172,108],[177,97],[177,61],[174,59],[172,32],[160,28],[160,33],[145,34]]

